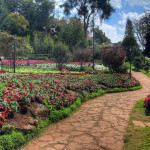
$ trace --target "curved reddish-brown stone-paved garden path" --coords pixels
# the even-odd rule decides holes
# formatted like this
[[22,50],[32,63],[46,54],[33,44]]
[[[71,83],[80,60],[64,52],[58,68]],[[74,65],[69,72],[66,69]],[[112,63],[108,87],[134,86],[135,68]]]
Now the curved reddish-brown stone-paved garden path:
[[150,94],[150,79],[140,72],[133,76],[141,82],[141,90],[105,94],[83,103],[23,150],[121,150],[133,106]]

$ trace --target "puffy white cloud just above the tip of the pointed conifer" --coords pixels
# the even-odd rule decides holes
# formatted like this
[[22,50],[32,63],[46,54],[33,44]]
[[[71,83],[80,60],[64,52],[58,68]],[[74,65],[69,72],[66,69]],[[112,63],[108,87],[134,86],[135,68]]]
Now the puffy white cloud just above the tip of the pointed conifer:
[[132,21],[134,21],[134,20],[139,20],[143,15],[144,15],[144,13],[138,14],[137,12],[129,12],[127,14],[123,13],[122,20],[118,21],[118,23],[120,25],[125,26],[127,18],[130,18]]

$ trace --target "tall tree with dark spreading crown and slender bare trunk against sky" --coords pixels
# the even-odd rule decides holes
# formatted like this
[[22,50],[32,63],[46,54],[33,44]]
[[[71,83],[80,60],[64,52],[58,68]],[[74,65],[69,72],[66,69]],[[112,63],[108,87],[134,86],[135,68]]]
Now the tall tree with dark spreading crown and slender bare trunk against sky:
[[98,14],[100,19],[109,19],[114,12],[110,0],[66,0],[61,6],[64,7],[64,13],[70,15],[71,10],[77,10],[79,16],[83,17],[83,26],[85,37],[87,29],[94,14]]

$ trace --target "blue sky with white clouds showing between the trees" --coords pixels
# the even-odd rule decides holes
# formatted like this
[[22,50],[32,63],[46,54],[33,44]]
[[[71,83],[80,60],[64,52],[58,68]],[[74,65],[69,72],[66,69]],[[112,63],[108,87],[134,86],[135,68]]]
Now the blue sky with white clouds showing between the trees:
[[[63,0],[56,0],[56,9],[58,17],[62,16],[62,10],[59,8]],[[96,25],[105,32],[106,36],[111,39],[112,43],[122,41],[126,20],[129,17],[132,21],[138,20],[144,11],[150,11],[150,0],[111,0],[112,6],[116,9],[109,20],[100,23],[96,19]],[[75,10],[73,11],[75,13]]]

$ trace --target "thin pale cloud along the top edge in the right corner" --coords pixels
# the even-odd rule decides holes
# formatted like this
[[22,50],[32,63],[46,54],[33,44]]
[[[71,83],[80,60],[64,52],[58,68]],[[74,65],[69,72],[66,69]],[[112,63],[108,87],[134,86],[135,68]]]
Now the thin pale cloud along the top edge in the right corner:
[[129,5],[139,5],[139,6],[145,6],[150,4],[150,0],[125,0]]

